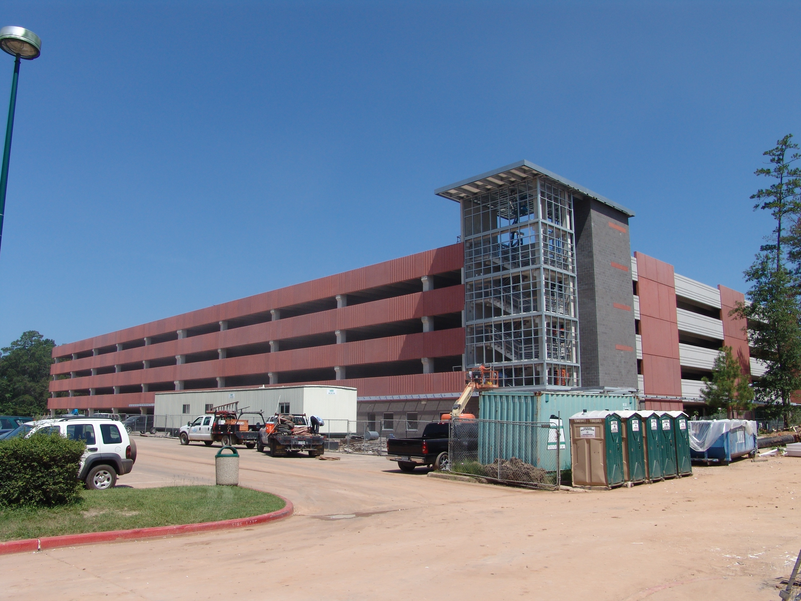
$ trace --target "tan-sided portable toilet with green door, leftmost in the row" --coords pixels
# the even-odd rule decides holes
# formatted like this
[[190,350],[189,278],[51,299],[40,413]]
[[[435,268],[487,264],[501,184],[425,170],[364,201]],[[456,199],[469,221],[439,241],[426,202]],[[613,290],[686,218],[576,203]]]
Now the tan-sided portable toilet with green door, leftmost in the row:
[[622,421],[614,411],[570,417],[573,486],[611,488],[623,483]]

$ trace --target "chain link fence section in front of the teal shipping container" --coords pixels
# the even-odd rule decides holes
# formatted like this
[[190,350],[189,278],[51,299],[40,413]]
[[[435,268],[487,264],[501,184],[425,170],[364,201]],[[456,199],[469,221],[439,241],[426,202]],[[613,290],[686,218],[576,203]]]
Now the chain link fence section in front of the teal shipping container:
[[501,422],[455,418],[449,471],[515,486],[554,490],[562,479],[557,426],[550,422]]

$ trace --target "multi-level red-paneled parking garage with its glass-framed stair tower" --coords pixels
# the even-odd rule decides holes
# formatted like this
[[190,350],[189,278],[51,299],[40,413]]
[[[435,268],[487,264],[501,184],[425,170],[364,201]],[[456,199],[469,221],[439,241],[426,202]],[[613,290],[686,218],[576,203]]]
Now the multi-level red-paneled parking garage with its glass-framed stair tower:
[[364,419],[417,422],[480,363],[510,388],[638,389],[679,408],[723,344],[758,375],[728,315],[743,295],[632,258],[634,213],[614,201],[527,161],[435,192],[461,206],[459,244],[60,345],[50,409],[336,382],[356,387]]

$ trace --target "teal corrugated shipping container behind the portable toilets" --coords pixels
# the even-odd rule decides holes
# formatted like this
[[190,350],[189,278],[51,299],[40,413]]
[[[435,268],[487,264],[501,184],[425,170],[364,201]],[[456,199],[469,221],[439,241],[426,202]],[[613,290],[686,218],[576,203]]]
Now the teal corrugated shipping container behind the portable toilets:
[[[559,459],[562,470],[569,470],[570,460],[570,428],[568,419],[575,413],[587,411],[631,411],[637,409],[637,398],[634,395],[622,394],[590,394],[590,393],[550,393],[550,392],[504,392],[502,389],[481,393],[478,401],[478,418],[480,420],[497,420],[498,422],[549,422],[552,415],[562,417],[563,431],[566,436],[565,445],[560,445]],[[494,430],[493,430],[494,428]],[[553,449],[549,449],[549,430],[544,428],[514,428],[513,426],[493,425],[480,422],[478,430],[478,458],[482,463],[491,463],[500,456],[505,459],[517,457],[533,466],[549,463],[553,458]],[[511,430],[510,430],[511,429]],[[517,432],[515,431],[517,430]],[[509,432],[507,436],[505,433]],[[537,432],[539,434],[533,434]],[[503,442],[501,436],[504,434]],[[523,435],[529,436],[526,440]],[[500,453],[499,453],[500,451]],[[545,458],[545,461],[543,461]]]

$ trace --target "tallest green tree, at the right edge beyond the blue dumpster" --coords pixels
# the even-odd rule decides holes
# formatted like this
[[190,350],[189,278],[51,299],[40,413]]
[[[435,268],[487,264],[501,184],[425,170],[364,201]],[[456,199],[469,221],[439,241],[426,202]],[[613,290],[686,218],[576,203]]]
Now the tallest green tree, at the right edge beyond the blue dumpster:
[[759,189],[752,199],[759,200],[754,209],[770,211],[775,220],[768,244],[759,248],[754,264],[745,271],[751,283],[747,298],[731,314],[747,320],[748,343],[751,355],[767,364],[767,371],[753,389],[758,401],[765,403],[767,413],[781,415],[785,426],[790,420],[791,394],[801,388],[801,307],[799,288],[787,267],[787,244],[792,238],[787,227],[799,218],[799,187],[801,169],[792,163],[801,155],[792,135],[785,135],[776,147],[765,151],[772,167],[762,167],[755,175],[774,179],[769,188]]

